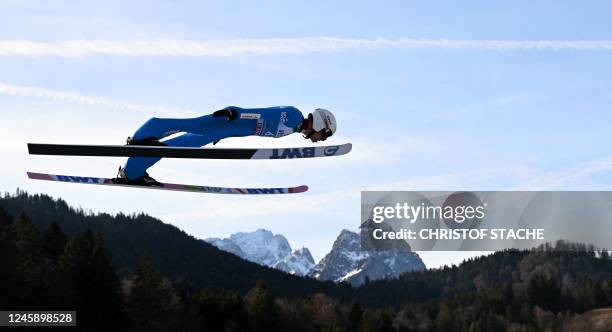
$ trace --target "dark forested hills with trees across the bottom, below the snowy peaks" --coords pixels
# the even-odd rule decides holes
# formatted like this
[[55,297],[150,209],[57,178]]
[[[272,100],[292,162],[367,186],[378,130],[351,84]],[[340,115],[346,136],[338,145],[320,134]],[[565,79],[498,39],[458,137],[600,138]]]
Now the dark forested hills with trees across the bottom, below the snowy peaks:
[[[0,310],[76,310],[82,331],[555,331],[612,306],[608,252],[562,241],[358,289],[269,271],[209,247],[146,215],[5,195]],[[201,256],[188,259],[201,264],[193,271],[180,263],[192,255]],[[215,265],[222,260],[228,265]],[[223,280],[232,267],[243,275]]]

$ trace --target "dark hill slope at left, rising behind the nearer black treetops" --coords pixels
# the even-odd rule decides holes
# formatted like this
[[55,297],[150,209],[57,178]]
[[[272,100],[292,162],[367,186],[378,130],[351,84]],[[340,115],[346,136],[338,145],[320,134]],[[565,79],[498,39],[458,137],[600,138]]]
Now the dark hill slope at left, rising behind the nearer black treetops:
[[12,216],[25,211],[40,231],[56,222],[68,237],[80,235],[86,229],[100,232],[120,275],[148,256],[162,275],[196,288],[245,293],[261,279],[274,292],[286,296],[322,292],[347,297],[352,293],[348,285],[338,287],[332,282],[293,276],[243,260],[145,214],[92,214],[71,208],[61,199],[25,192],[4,195],[0,207]]

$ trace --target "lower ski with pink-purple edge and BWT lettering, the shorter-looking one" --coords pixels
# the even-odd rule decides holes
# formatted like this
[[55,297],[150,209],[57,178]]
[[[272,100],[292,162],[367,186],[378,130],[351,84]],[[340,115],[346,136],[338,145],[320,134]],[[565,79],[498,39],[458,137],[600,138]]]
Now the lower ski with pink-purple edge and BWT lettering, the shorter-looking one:
[[305,185],[298,186],[298,187],[288,187],[288,188],[224,188],[224,187],[210,187],[210,186],[198,186],[198,185],[176,184],[176,183],[161,183],[161,186],[157,187],[157,186],[119,184],[119,183],[114,183],[113,179],[96,178],[96,177],[89,177],[89,176],[57,175],[57,174],[34,173],[34,172],[27,172],[27,173],[28,173],[28,178],[33,179],[33,180],[47,180],[47,181],[69,182],[69,183],[81,183],[81,184],[97,184],[97,185],[103,185],[103,186],[131,187],[131,188],[142,188],[142,189],[187,191],[187,192],[210,193],[210,194],[238,194],[238,195],[297,194],[297,193],[303,193],[308,190],[308,186],[305,186]]

